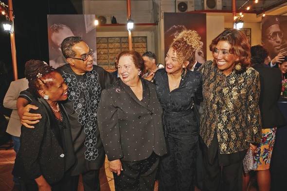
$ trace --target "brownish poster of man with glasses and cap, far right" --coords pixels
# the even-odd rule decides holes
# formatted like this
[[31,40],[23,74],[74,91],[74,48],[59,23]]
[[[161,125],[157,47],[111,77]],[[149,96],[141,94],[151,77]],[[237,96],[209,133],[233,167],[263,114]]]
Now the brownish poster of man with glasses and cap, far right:
[[262,45],[269,52],[269,66],[278,67],[287,56],[287,16],[262,18]]

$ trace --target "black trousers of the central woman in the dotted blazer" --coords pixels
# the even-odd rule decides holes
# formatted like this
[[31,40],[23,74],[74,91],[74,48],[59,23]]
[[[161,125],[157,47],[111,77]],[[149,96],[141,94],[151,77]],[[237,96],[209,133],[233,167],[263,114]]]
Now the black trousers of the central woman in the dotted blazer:
[[128,162],[121,160],[123,171],[113,173],[116,191],[153,191],[159,165],[159,156],[154,152],[144,160]]

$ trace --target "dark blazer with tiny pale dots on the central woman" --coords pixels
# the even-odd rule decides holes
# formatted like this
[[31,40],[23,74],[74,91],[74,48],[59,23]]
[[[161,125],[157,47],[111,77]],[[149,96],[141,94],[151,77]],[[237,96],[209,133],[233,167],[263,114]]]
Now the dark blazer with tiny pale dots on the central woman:
[[141,80],[142,101],[120,79],[102,91],[98,127],[110,161],[139,161],[147,159],[152,152],[159,156],[166,154],[162,109],[155,85]]

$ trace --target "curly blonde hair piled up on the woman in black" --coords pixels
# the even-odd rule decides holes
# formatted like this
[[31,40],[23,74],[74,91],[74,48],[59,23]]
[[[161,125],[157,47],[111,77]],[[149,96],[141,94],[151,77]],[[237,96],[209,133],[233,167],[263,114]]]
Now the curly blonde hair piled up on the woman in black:
[[186,69],[190,69],[195,63],[195,52],[200,48],[200,36],[196,31],[183,30],[173,40],[169,48],[173,48],[177,53],[180,64],[188,61]]

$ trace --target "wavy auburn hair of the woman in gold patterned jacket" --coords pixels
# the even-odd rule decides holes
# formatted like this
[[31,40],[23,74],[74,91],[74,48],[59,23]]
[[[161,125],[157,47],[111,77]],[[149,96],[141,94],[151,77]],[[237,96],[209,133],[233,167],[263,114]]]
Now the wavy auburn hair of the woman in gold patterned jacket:
[[235,62],[235,64],[241,65],[241,69],[235,70],[236,73],[242,73],[250,66],[250,45],[243,32],[236,29],[224,30],[212,40],[212,43],[209,45],[210,51],[214,53],[214,49],[219,41],[227,41],[231,45],[229,52],[238,57],[239,61]]

